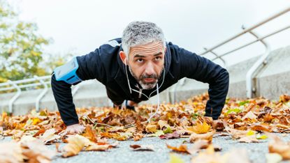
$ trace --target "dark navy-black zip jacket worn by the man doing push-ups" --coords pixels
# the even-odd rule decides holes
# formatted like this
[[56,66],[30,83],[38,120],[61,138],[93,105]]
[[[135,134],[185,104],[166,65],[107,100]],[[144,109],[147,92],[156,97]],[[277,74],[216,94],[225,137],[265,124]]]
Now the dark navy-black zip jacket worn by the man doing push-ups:
[[[134,102],[148,100],[145,95],[149,96],[152,91],[154,91],[152,96],[156,95],[156,88],[142,90],[145,95],[139,95],[135,91],[130,93],[125,65],[119,57],[120,51],[122,51],[121,38],[117,38],[101,45],[94,52],[78,56],[79,68],[76,72],[78,77],[82,80],[97,79],[100,81],[106,86],[108,98],[114,104],[122,104],[124,100]],[[159,92],[177,83],[183,77],[208,83],[210,100],[205,107],[205,116],[211,116],[213,119],[219,118],[229,89],[229,73],[226,69],[168,42],[166,43],[164,71],[162,73],[165,74],[161,75],[161,78],[164,77],[164,79],[158,81],[159,86],[161,86]],[[140,84],[129,71],[128,77],[131,88],[140,90]],[[164,83],[161,85],[162,81]],[[52,75],[51,85],[64,123],[66,125],[78,123],[78,115],[75,112],[71,94],[71,84],[67,84],[65,81],[56,81],[55,75]]]

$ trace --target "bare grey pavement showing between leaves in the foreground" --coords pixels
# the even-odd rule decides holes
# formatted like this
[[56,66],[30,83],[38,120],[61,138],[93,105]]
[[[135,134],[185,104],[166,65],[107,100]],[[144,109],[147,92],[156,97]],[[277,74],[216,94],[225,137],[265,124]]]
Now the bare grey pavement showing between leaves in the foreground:
[[[282,137],[281,134],[278,135],[284,141],[290,141],[290,134],[287,134],[286,137]],[[6,139],[1,141],[10,141],[10,138],[6,137]],[[149,137],[144,138],[141,141],[119,141],[118,148],[112,148],[106,152],[81,152],[77,156],[68,158],[57,156],[52,162],[169,162],[169,154],[171,153],[171,150],[166,147],[166,143],[171,146],[179,146],[182,141],[189,141],[189,139],[182,138],[164,140],[157,137]],[[212,143],[222,147],[221,153],[225,153],[234,148],[245,148],[252,162],[266,162],[265,154],[268,153],[268,139],[261,141],[261,143],[238,143],[238,141],[232,140],[231,137],[215,137],[212,140]],[[154,151],[133,151],[129,147],[132,144],[152,144],[154,146]],[[62,146],[64,146],[64,144],[61,144],[60,148]],[[191,144],[188,143],[188,146],[191,146]],[[48,148],[55,150],[55,145],[48,146]],[[190,162],[191,155],[180,153],[175,153],[175,155],[180,156],[184,162]]]

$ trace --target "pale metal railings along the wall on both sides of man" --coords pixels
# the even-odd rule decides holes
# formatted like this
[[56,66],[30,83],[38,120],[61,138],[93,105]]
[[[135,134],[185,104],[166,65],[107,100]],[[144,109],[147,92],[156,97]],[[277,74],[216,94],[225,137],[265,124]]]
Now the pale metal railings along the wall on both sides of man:
[[[248,45],[252,45],[255,42],[261,42],[266,47],[266,52],[260,57],[260,59],[258,61],[256,61],[256,63],[254,63],[254,65],[252,66],[252,68],[249,69],[249,71],[247,72],[247,75],[246,75],[246,78],[247,78],[246,79],[246,83],[247,83],[247,98],[252,98],[252,93],[253,93],[253,91],[255,91],[255,89],[252,86],[253,75],[254,75],[254,73],[257,70],[259,70],[259,68],[261,68],[262,65],[266,64],[266,59],[268,58],[268,55],[270,53],[270,47],[265,42],[264,39],[268,38],[270,36],[273,36],[276,33],[279,33],[281,31],[289,29],[290,28],[290,24],[288,26],[285,26],[282,29],[279,29],[277,31],[273,31],[273,33],[269,33],[268,35],[262,36],[262,37],[258,36],[252,30],[258,28],[259,26],[261,26],[263,24],[266,24],[270,20],[273,20],[276,17],[279,17],[280,15],[283,15],[284,13],[287,13],[289,11],[290,11],[290,6],[288,8],[286,8],[285,10],[282,10],[281,12],[279,12],[279,13],[271,16],[271,17],[268,17],[266,20],[263,20],[263,21],[259,22],[258,24],[255,24],[254,26],[249,27],[248,29],[245,29],[245,27],[242,26],[242,29],[243,29],[242,32],[236,34],[235,36],[233,36],[233,37],[231,37],[231,38],[229,38],[227,40],[224,40],[224,41],[220,42],[219,44],[217,44],[217,45],[215,45],[215,46],[213,46],[211,48],[204,48],[205,52],[201,53],[200,55],[203,56],[205,54],[212,53],[212,54],[215,55],[215,58],[212,59],[212,61],[220,59],[224,63],[224,65],[226,65],[226,61],[223,59],[224,56],[226,56],[228,54],[231,54],[231,53],[237,51],[238,49],[242,49],[244,47],[247,47]],[[219,55],[216,52],[214,52],[214,50],[217,49],[218,47],[221,47],[222,45],[226,44],[227,42],[230,42],[231,40],[234,40],[235,38],[238,38],[238,37],[244,35],[245,33],[251,33],[254,37],[256,37],[256,40],[254,40],[252,42],[249,42],[249,43],[247,43],[245,45],[242,45],[240,47],[237,47],[235,49],[232,49],[231,51],[226,52],[226,53],[221,54],[221,55]],[[19,98],[19,96],[22,93],[21,88],[43,86],[44,87],[43,91],[41,91],[41,93],[36,98],[35,106],[36,106],[36,111],[38,111],[39,110],[39,103],[41,102],[41,99],[48,92],[48,86],[50,85],[50,78],[51,78],[50,75],[44,76],[44,77],[34,76],[34,78],[31,78],[31,79],[22,79],[22,80],[17,80],[17,81],[7,81],[5,83],[0,83],[0,92],[1,91],[9,91],[9,90],[16,90],[17,91],[17,93],[15,93],[13,98],[11,98],[10,101],[9,101],[9,111],[10,111],[10,113],[12,113],[12,111],[13,111],[13,103],[15,102],[15,100],[17,100],[17,98]],[[185,82],[185,78],[182,79],[182,81],[180,82],[180,85],[183,85],[184,82]],[[78,91],[79,88],[80,88],[80,84],[75,86],[72,89],[72,95],[75,95],[75,93]],[[174,102],[176,100],[175,99],[176,90],[177,90],[177,85],[174,88],[174,96],[173,96],[173,101]],[[168,91],[168,93],[169,93],[169,91]]]

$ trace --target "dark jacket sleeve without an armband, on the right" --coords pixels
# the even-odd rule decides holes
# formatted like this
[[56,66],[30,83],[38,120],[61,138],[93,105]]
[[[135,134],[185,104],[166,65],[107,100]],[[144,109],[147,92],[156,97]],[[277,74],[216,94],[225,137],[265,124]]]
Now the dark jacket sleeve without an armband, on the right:
[[178,49],[181,77],[188,77],[208,83],[210,100],[206,103],[205,116],[214,120],[222,114],[226,95],[229,91],[229,72],[220,65],[185,49]]

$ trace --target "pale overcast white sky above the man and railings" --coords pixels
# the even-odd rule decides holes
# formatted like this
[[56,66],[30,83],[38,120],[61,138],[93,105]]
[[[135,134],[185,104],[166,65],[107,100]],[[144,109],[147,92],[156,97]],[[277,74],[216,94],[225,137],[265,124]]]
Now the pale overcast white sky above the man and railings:
[[[156,23],[164,30],[167,41],[200,54],[204,52],[204,47],[209,48],[217,45],[222,40],[242,31],[242,25],[252,26],[289,5],[289,0],[184,0],[178,2],[173,0],[142,2],[133,0],[1,0],[1,40],[10,38],[10,42],[9,40],[4,41],[6,45],[1,42],[0,68],[2,71],[5,67],[5,70],[14,71],[15,74],[23,66],[27,66],[27,70],[31,69],[29,65],[25,65],[27,63],[37,64],[36,61],[38,63],[43,61],[44,64],[41,65],[47,65],[45,70],[34,68],[35,70],[31,71],[37,75],[47,75],[47,72],[51,72],[55,65],[66,62],[72,56],[87,54],[94,51],[103,42],[121,37],[125,26],[134,20]],[[14,12],[14,15],[4,14],[5,10]],[[287,25],[289,20],[290,13],[287,13],[254,31],[260,36],[264,36]],[[22,26],[17,27],[16,24],[20,22],[22,22]],[[12,25],[4,28],[4,24]],[[23,56],[25,64],[21,61],[13,62],[13,56],[20,55],[16,54],[19,51],[17,48],[25,49],[24,45],[17,47],[19,43],[15,43],[18,37],[15,35],[21,35],[21,30],[27,34],[27,36],[22,36],[23,40],[29,42],[34,37],[38,38],[33,44],[39,45],[35,45],[34,51],[40,53],[31,54],[38,56],[39,59],[32,59],[29,54],[26,57]],[[216,49],[215,52],[222,54],[254,39],[251,34],[247,33]],[[270,43],[271,49],[289,45],[290,30],[278,33],[266,40]],[[31,49],[31,47],[29,48]],[[26,52],[33,53],[29,51],[30,49],[26,49]],[[256,43],[226,56],[224,59],[228,65],[233,65],[259,55],[263,51],[263,45]],[[8,54],[5,54],[6,52]],[[3,57],[7,55],[12,58]],[[27,59],[27,56],[30,58]],[[205,57],[211,58],[212,56]],[[7,62],[7,59],[11,64]],[[3,64],[3,62],[5,63]],[[20,67],[15,67],[15,64],[20,64]],[[3,67],[3,65],[6,66]],[[13,69],[13,67],[15,68]],[[19,73],[19,75],[10,77],[1,72],[0,81],[6,81],[7,78],[22,79],[29,75],[29,73],[21,73],[21,70]]]

